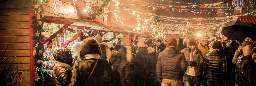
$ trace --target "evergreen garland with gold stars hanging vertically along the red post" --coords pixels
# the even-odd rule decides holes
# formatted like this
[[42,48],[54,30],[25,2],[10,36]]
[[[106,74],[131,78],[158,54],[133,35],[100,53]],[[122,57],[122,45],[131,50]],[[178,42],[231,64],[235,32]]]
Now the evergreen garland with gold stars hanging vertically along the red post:
[[[37,61],[38,60],[44,61],[44,58],[43,58],[42,54],[39,54],[39,50],[44,49],[44,47],[43,47],[43,45],[44,45],[44,40],[43,40],[44,35],[41,34],[41,32],[43,31],[41,25],[43,25],[43,23],[44,23],[43,22],[44,17],[42,15],[44,10],[43,10],[43,6],[41,5],[42,0],[32,0],[32,3],[33,3],[32,8],[35,11],[35,15],[32,17],[32,20],[33,20],[32,24],[33,25],[31,25],[31,27],[34,28],[34,34],[40,33],[38,36],[34,35],[34,37],[32,38],[34,40],[34,44],[35,44],[35,45],[33,45],[33,47],[36,47],[36,54],[34,55],[34,59],[35,59],[34,60],[34,62],[35,62],[34,65],[35,65],[35,68],[37,68],[37,67],[39,68],[39,71],[37,72],[37,74],[38,74],[38,77],[40,78],[40,79],[38,79],[38,81],[34,80],[34,85],[42,86],[44,81],[45,81],[45,77],[43,75],[44,71],[42,69],[43,64],[42,63],[37,64]],[[37,8],[37,6],[38,6],[38,8]],[[41,22],[41,25],[39,24],[40,22]],[[39,44],[36,46],[37,43],[39,43]],[[44,51],[44,50],[42,50],[42,51]]]

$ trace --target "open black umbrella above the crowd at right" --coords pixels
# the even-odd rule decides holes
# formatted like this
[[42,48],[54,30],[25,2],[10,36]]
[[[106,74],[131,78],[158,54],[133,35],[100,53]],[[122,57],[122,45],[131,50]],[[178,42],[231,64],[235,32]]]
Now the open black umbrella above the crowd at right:
[[253,41],[256,40],[256,25],[251,22],[236,21],[226,24],[221,34],[228,39],[242,41],[243,37],[250,36]]

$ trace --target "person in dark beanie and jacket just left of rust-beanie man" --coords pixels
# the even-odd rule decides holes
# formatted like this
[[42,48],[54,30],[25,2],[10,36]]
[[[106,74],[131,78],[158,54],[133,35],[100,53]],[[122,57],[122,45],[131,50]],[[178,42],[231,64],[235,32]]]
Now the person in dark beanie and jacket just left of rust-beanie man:
[[163,52],[165,47],[166,46],[161,43],[160,39],[156,40],[156,46],[154,47],[154,54],[156,55],[156,59],[158,58],[159,53]]

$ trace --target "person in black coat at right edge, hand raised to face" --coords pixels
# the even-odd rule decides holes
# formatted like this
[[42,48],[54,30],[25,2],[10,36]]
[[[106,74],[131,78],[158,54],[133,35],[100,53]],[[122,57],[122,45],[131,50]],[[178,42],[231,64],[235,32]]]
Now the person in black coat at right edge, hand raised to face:
[[[256,86],[256,41],[243,49],[242,69],[251,86]],[[254,60],[254,61],[253,61]]]

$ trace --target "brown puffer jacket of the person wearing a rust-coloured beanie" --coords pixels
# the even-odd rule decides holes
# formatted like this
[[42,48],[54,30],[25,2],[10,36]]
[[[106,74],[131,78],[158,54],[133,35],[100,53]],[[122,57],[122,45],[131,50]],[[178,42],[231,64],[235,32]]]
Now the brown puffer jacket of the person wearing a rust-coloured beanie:
[[176,47],[167,47],[159,54],[156,70],[160,83],[163,78],[182,80],[182,76],[187,70],[184,54]]

